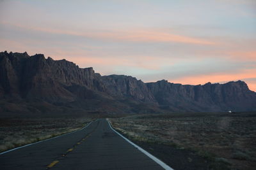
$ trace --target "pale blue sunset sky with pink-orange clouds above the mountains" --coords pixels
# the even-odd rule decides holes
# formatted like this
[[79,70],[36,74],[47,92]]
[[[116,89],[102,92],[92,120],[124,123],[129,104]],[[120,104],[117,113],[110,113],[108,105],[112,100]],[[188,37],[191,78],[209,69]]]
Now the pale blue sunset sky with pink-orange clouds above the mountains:
[[256,1],[0,0],[5,50],[144,82],[243,80],[256,91]]

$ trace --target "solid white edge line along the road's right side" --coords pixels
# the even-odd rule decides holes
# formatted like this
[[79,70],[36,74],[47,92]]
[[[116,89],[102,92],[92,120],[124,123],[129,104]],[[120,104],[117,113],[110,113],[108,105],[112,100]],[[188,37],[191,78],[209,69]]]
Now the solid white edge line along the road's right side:
[[[108,121],[109,124],[109,121]],[[111,127],[111,125],[109,124],[109,127]],[[122,136],[122,134],[120,134],[119,132],[117,132],[115,129],[113,129],[113,127],[111,127],[111,129],[116,132],[119,136],[121,136],[122,138],[125,139],[125,141],[129,142],[131,145],[133,145],[135,148],[138,148],[138,150],[140,150],[140,152],[144,153],[145,155],[147,155],[148,157],[150,157],[150,159],[154,160],[157,164],[159,164],[161,167],[163,167],[166,170],[174,170],[172,169],[172,167],[166,165],[162,160],[158,159],[157,157],[151,155],[150,153],[148,153],[147,151],[143,150],[143,148],[141,148],[140,146],[136,145],[135,143],[133,143],[132,141],[130,141],[129,139],[125,138],[124,136]]]

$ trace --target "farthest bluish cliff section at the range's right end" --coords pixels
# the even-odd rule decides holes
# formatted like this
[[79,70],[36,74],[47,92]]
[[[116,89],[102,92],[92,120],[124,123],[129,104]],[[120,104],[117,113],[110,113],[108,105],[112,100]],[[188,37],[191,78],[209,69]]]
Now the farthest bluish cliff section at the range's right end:
[[172,110],[245,111],[255,110],[256,93],[244,81],[225,84],[181,85],[166,80],[147,83],[157,103]]

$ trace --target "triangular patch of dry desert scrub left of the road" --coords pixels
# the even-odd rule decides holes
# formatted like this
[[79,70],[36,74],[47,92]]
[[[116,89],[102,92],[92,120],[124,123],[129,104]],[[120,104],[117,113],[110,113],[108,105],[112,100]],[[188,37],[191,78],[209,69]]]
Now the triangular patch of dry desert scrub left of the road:
[[77,131],[92,118],[0,119],[0,152]]

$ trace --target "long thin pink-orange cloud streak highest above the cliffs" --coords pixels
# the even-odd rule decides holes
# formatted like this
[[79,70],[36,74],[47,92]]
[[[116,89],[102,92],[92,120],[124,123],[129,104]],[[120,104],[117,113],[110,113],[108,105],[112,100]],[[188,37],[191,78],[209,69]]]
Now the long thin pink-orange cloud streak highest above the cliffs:
[[129,31],[71,31],[64,29],[52,29],[45,27],[29,27],[28,25],[10,24],[8,22],[1,22],[4,25],[12,25],[14,27],[20,27],[22,29],[28,29],[33,31],[49,32],[53,34],[68,34],[72,36],[81,36],[85,38],[99,38],[110,40],[122,40],[122,41],[144,41],[144,42],[177,42],[177,43],[189,43],[200,45],[214,45],[212,41],[207,41],[202,38],[193,38],[190,36],[182,36],[176,34],[170,34],[163,31],[141,31],[141,30],[129,30]]

